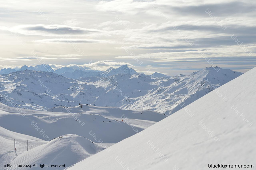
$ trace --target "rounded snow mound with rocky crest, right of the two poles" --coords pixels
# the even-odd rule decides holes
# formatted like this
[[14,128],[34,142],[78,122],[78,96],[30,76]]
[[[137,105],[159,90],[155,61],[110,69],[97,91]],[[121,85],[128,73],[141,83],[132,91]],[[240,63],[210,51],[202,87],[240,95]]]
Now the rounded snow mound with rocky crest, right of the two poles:
[[[68,134],[57,137],[50,142],[35,147],[27,152],[18,155],[10,164],[47,164],[47,165],[65,165],[69,167],[81,160],[96,154],[104,149],[104,144],[92,143],[91,140],[76,134]],[[21,168],[10,168],[19,170]],[[42,169],[40,167],[31,167],[24,169]],[[49,167],[43,169],[65,169],[61,167]],[[6,169],[8,170],[8,168]]]

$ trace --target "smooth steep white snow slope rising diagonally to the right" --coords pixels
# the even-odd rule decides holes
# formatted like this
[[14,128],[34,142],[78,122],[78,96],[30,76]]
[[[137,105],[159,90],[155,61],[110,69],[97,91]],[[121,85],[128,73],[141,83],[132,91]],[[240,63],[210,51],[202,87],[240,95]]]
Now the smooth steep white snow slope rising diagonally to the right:
[[68,170],[191,170],[218,163],[255,167],[255,75],[256,68]]

